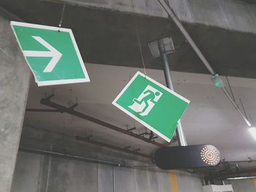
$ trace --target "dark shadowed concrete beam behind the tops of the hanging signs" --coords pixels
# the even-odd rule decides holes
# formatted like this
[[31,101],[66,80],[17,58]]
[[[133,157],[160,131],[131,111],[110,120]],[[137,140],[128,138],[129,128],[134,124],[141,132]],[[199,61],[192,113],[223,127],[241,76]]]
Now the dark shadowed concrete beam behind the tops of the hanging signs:
[[[60,1],[0,0],[0,6],[26,22],[58,26],[63,4],[56,2]],[[176,48],[184,42],[176,26],[166,18],[67,4],[63,20],[64,27],[72,28],[85,61],[116,66],[142,66],[136,25],[146,66],[162,69],[160,59],[151,57],[148,42],[166,36],[173,37]],[[184,25],[219,74],[256,77],[255,34],[197,23]],[[173,71],[208,73],[188,44],[169,59]]]

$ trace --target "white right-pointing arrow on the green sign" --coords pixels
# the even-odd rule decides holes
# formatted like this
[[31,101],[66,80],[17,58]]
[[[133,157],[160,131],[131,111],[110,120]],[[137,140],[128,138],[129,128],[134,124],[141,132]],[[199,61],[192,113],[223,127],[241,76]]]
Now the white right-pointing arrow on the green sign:
[[23,54],[25,57],[51,57],[49,64],[45,67],[43,72],[52,72],[56,64],[58,64],[59,59],[61,58],[62,54],[59,53],[53,46],[45,42],[44,39],[37,36],[32,36],[37,42],[41,43],[45,46],[49,51],[34,51],[34,50],[23,50]]

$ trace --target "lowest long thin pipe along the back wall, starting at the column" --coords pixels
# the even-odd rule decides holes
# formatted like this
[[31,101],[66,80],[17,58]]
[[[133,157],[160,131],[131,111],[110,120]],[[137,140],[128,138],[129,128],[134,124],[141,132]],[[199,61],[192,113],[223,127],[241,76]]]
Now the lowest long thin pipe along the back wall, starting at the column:
[[70,155],[70,154],[64,154],[64,153],[56,153],[53,151],[48,151],[48,150],[39,150],[35,148],[30,148],[30,147],[19,147],[20,151],[23,152],[29,152],[29,153],[39,153],[42,155],[50,155],[50,156],[57,156],[61,158],[72,158],[78,161],[86,161],[86,162],[91,162],[91,163],[98,163],[98,164],[107,164],[107,165],[112,165],[112,166],[121,166],[121,163],[116,163],[116,162],[110,162],[110,161],[105,161],[105,160],[100,160],[97,158],[86,158],[86,157],[81,157],[78,155]]

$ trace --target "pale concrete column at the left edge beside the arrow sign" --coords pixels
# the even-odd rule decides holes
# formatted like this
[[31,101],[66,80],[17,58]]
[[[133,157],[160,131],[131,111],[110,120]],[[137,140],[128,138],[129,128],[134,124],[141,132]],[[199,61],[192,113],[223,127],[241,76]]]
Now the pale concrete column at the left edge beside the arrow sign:
[[29,92],[29,67],[12,33],[10,20],[0,9],[0,191],[9,192],[18,153]]

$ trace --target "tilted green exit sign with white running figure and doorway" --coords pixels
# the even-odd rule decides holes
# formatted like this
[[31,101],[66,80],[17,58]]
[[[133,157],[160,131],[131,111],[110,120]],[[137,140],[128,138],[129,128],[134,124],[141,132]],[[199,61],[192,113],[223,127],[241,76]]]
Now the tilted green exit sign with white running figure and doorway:
[[159,82],[137,72],[113,104],[170,142],[189,102]]

